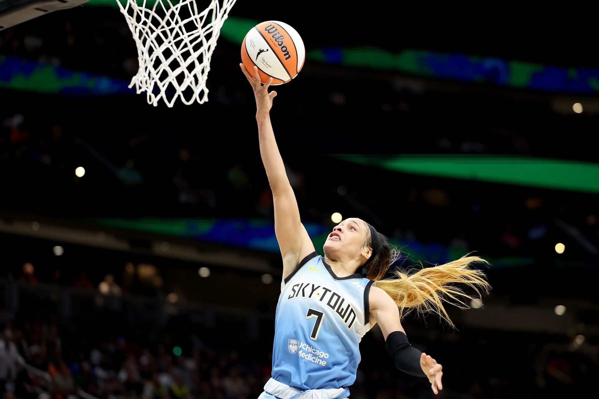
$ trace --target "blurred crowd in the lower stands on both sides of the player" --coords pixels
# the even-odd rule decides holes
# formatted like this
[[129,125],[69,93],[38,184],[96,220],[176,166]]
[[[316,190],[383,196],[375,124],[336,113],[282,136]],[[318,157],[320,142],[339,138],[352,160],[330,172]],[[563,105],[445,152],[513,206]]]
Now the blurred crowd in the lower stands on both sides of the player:
[[[167,325],[136,335],[116,320],[101,327],[91,319],[87,325],[61,324],[52,313],[20,312],[14,320],[1,315],[4,399],[89,399],[81,391],[101,399],[249,399],[259,396],[270,377],[271,334],[252,342],[244,340],[243,330],[229,340],[231,331]],[[379,335],[369,333],[361,343],[351,397],[432,397],[425,379],[393,367]],[[584,396],[599,371],[599,346],[580,339],[429,329],[412,341],[443,364],[438,398]],[[498,361],[506,355],[509,360]]]

